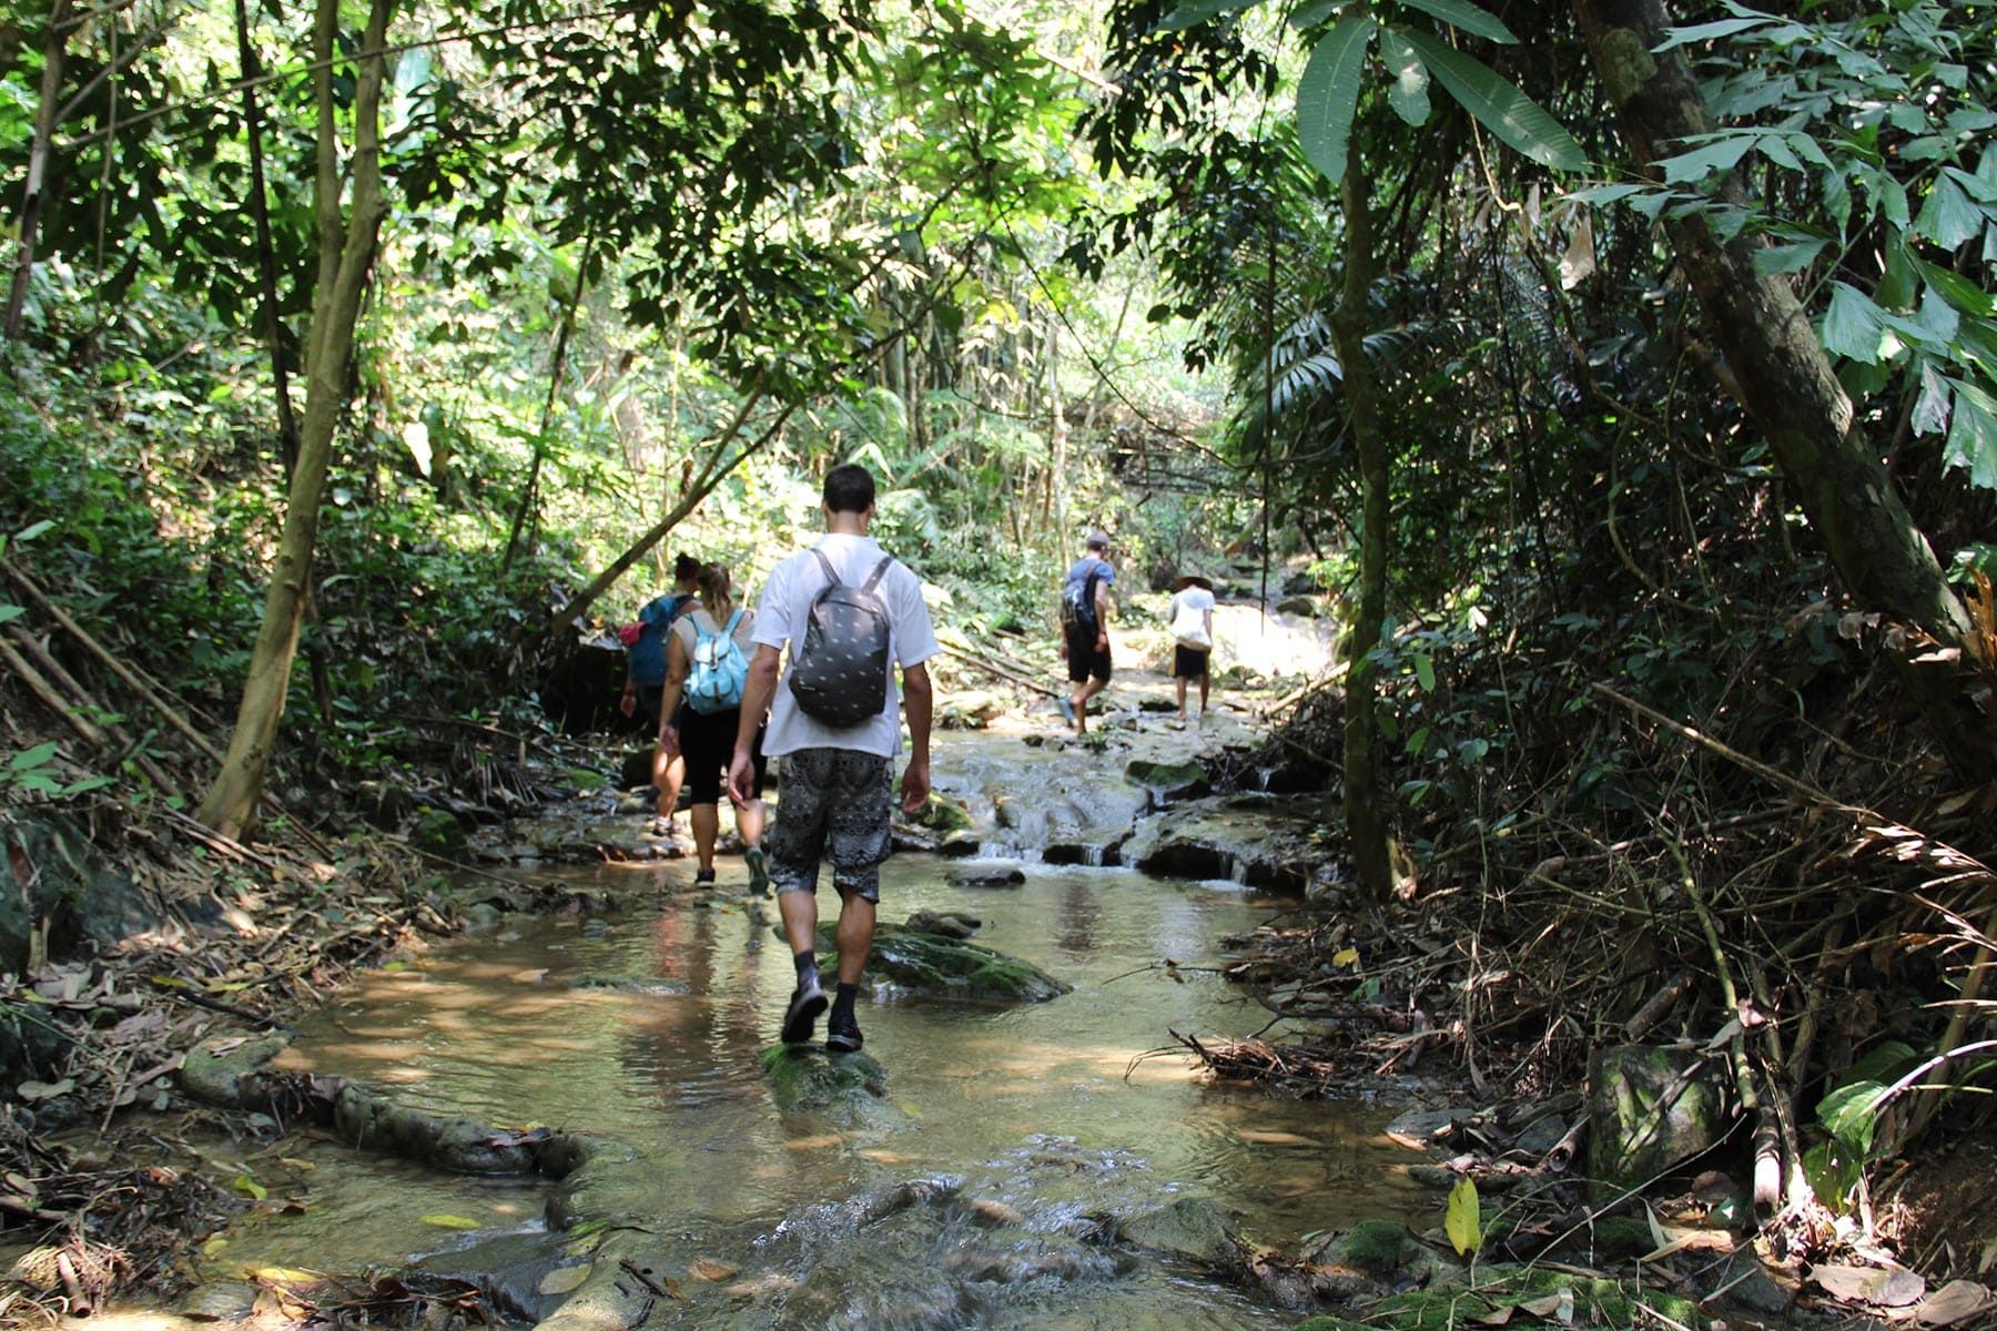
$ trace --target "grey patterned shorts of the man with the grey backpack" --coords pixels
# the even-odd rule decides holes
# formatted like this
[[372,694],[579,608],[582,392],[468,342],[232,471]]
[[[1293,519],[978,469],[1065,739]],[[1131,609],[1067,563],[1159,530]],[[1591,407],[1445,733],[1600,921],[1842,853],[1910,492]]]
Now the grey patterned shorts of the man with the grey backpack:
[[819,862],[833,886],[881,900],[889,852],[895,760],[851,748],[799,748],[777,760],[777,816],[763,842],[769,880],[783,892],[817,892]]

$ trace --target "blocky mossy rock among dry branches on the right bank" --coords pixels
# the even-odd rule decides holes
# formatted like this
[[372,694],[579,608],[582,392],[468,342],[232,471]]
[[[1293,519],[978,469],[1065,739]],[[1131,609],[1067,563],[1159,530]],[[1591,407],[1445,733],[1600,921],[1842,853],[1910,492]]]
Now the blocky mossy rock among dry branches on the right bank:
[[1588,1175],[1620,1193],[1725,1135],[1719,1070],[1695,1050],[1610,1046],[1588,1060]]

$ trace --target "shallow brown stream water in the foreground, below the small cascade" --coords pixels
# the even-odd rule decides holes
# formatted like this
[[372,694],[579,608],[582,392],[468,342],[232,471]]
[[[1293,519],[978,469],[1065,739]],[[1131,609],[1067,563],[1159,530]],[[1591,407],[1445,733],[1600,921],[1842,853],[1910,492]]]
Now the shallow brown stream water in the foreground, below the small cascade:
[[[889,1080],[857,1119],[771,1104],[757,1060],[793,968],[775,908],[739,890],[739,858],[721,860],[721,892],[693,888],[687,860],[569,870],[621,908],[509,916],[367,974],[286,1060],[431,1111],[627,1151],[593,1167],[605,1181],[591,1209],[649,1231],[689,1295],[653,1325],[1282,1327],[1294,1313],[1196,1267],[1090,1241],[1092,1217],[1206,1197],[1278,1243],[1370,1215],[1426,1223],[1430,1195],[1380,1133],[1398,1106],[1210,1086],[1176,1048],[1174,1032],[1266,1026],[1214,968],[1224,938],[1294,902],[1120,868],[1020,868],[1018,886],[965,888],[935,856],[889,862],[883,920],[973,914],[981,944],[1074,992],[1022,1008],[863,998],[867,1052]],[[831,890],[823,906],[837,910]],[[332,1139],[240,1163],[270,1197],[208,1257],[212,1275],[421,1259],[487,1285],[509,1273],[497,1283],[511,1281],[501,1305],[515,1317],[553,1307],[535,1295],[563,1243],[545,1229],[545,1181],[439,1175]],[[957,1203],[869,1225],[837,1205],[911,1179],[947,1179]]]

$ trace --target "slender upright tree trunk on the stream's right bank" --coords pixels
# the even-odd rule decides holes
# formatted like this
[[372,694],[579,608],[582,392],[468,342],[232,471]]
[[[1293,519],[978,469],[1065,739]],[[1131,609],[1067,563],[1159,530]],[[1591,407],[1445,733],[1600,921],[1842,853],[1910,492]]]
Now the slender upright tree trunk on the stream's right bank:
[[1372,661],[1386,623],[1388,559],[1388,459],[1374,401],[1376,379],[1366,359],[1366,299],[1372,291],[1372,202],[1366,174],[1348,164],[1340,182],[1346,223],[1346,273],[1332,315],[1332,341],[1344,371],[1346,429],[1360,461],[1360,613],[1352,625],[1350,666],[1346,668],[1346,836],[1360,892],[1384,902],[1394,892],[1394,862],[1388,854],[1388,820],[1380,796],[1376,754],[1380,724],[1374,716],[1376,676]]

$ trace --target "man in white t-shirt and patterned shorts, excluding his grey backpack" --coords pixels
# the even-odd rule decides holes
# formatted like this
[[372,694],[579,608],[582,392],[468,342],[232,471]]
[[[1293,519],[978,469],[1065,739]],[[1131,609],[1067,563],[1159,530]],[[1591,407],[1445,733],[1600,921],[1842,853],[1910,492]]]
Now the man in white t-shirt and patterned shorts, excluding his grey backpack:
[[[819,557],[849,587],[865,585],[887,559],[867,535],[873,513],[875,483],[865,467],[845,463],[825,475],[825,539],[777,565],[757,601],[757,653],[749,663],[735,762],[729,766],[729,792],[747,798],[755,772],[755,726],[767,706],[763,752],[777,760],[777,816],[763,848],[769,852],[769,880],[777,888],[785,938],[797,958],[797,990],[783,1014],[783,1042],[807,1044],[827,1006],[819,984],[817,892],[819,864],[831,862],[833,888],[839,890],[839,988],[825,1024],[825,1048],[833,1054],[861,1048],[853,1002],[873,948],[881,862],[891,844],[903,708],[895,696],[893,668],[881,710],[843,728],[805,714],[791,688],[777,684],[785,647],[791,649],[789,668],[795,672],[811,607],[829,585]],[[901,692],[909,712],[909,766],[901,774],[901,806],[915,812],[929,802],[933,690],[923,663],[941,649],[915,573],[889,561],[875,593],[887,607],[889,661],[891,666],[901,666]]]

